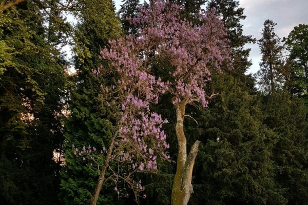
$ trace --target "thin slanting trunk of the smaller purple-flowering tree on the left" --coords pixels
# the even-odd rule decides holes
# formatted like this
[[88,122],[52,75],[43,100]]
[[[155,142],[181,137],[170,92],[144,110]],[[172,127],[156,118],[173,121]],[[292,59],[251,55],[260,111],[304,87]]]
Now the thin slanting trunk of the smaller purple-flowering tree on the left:
[[108,153],[107,153],[106,159],[104,161],[104,165],[102,167],[102,172],[100,174],[99,182],[98,182],[97,187],[95,188],[94,195],[91,198],[91,205],[96,205],[97,201],[99,199],[99,196],[100,196],[103,184],[104,184],[104,180],[105,180],[106,170],[107,170],[109,160],[110,160],[110,157],[111,157],[111,153],[112,153],[112,150],[113,150],[114,140],[115,140],[115,137],[117,137],[117,134],[118,134],[118,132],[116,132],[114,134],[114,136],[111,138]]

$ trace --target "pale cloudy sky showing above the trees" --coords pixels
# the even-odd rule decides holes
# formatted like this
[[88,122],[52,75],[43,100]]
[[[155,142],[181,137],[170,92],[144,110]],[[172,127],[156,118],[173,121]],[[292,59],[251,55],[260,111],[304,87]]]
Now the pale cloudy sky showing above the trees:
[[[121,0],[114,2],[119,9]],[[244,14],[247,16],[242,21],[244,34],[252,35],[257,39],[261,38],[263,23],[266,19],[277,23],[275,32],[281,39],[286,37],[295,26],[308,24],[308,0],[240,0],[240,6],[245,9]],[[260,50],[257,45],[247,45],[247,47],[252,49],[250,57],[253,60],[253,66],[249,72],[255,73],[259,69]]]

